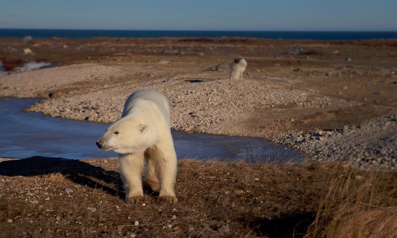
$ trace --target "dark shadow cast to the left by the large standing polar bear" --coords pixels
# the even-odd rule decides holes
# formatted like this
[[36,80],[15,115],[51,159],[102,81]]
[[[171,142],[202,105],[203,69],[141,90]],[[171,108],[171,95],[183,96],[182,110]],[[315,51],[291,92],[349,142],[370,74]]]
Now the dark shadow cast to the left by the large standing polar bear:
[[[33,156],[21,160],[8,160],[0,163],[0,175],[2,176],[44,176],[53,173],[60,173],[64,178],[94,189],[101,189],[112,196],[124,200],[125,193],[120,173],[105,170],[102,167],[88,164],[79,160],[64,158],[53,158]],[[99,181],[103,181],[106,185]],[[152,197],[158,193],[144,186],[144,193]]]

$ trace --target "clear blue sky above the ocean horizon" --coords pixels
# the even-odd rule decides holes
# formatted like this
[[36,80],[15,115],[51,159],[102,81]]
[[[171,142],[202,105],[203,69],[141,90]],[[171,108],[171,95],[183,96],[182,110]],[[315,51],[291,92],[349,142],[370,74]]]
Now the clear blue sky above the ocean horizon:
[[0,28],[397,31],[397,0],[0,0]]

